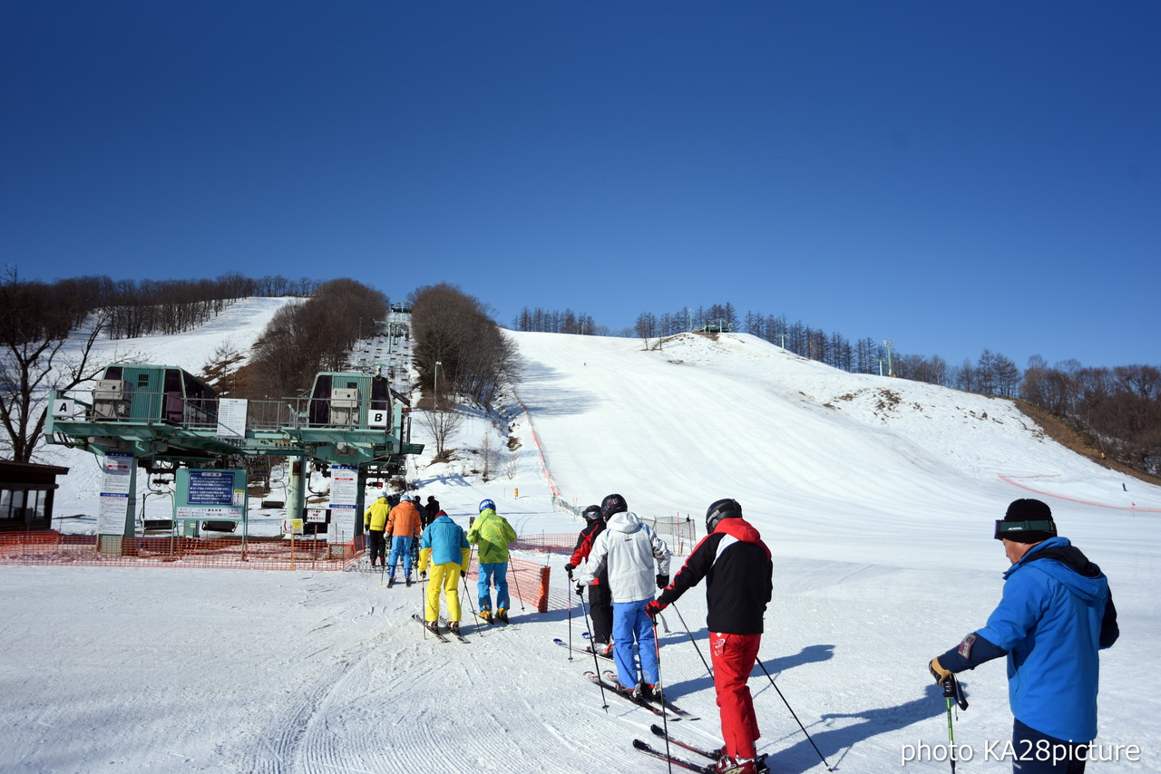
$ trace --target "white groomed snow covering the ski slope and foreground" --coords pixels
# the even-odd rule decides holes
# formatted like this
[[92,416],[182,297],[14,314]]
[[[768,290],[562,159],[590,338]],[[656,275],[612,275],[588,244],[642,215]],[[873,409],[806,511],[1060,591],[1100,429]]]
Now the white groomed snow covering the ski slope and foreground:
[[[264,303],[240,304],[237,326],[226,333],[219,318],[211,335],[248,347],[273,313],[271,304],[258,313]],[[509,425],[473,413],[456,460],[432,465],[427,454],[411,468],[418,493],[434,494],[459,523],[489,497],[520,533],[580,528],[551,506],[533,429],[553,482],[576,505],[620,492],[643,516],[691,514],[700,530],[709,502],[736,498],[774,555],[763,663],[828,762],[837,772],[946,772],[945,706],[926,663],[982,625],[1000,598],[1007,560],[993,520],[1015,498],[1041,497],[1061,534],[1109,574],[1120,616],[1122,638],[1103,653],[1097,742],[1137,745],[1140,759],[1122,752],[1119,764],[1089,771],[1161,769],[1147,681],[1161,634],[1161,489],[1061,448],[1007,402],[844,374],[749,335],[683,335],[659,350],[630,339],[511,335],[525,372],[505,396]],[[150,341],[163,353],[156,362],[197,371],[208,355],[192,350],[204,353],[205,340]],[[417,421],[417,441],[427,441],[423,432]],[[484,483],[470,472],[469,449],[488,433],[498,444],[520,440],[512,477]],[[70,528],[84,531],[99,480],[84,471],[95,465],[55,449],[45,461],[82,473],[63,479],[57,513],[82,514]],[[547,562],[563,598],[565,557]],[[613,696],[604,710],[582,677],[592,661],[553,644],[570,632],[583,642],[579,607],[570,617],[514,602],[518,625],[488,629],[464,600],[471,642],[442,644],[410,619],[420,587],[388,589],[366,565],[0,566],[0,583],[2,772],[665,771],[630,748],[658,718]],[[666,612],[662,678],[701,719],[671,721],[671,731],[713,746],[714,693],[694,649],[708,659],[704,588],[677,608],[693,643]],[[959,771],[1011,771],[987,755],[1010,737],[1003,661],[964,682],[971,708],[954,732],[973,759]],[[755,670],[750,687],[772,769],[825,771],[765,674]],[[922,744],[931,745],[925,759],[903,765]]]

